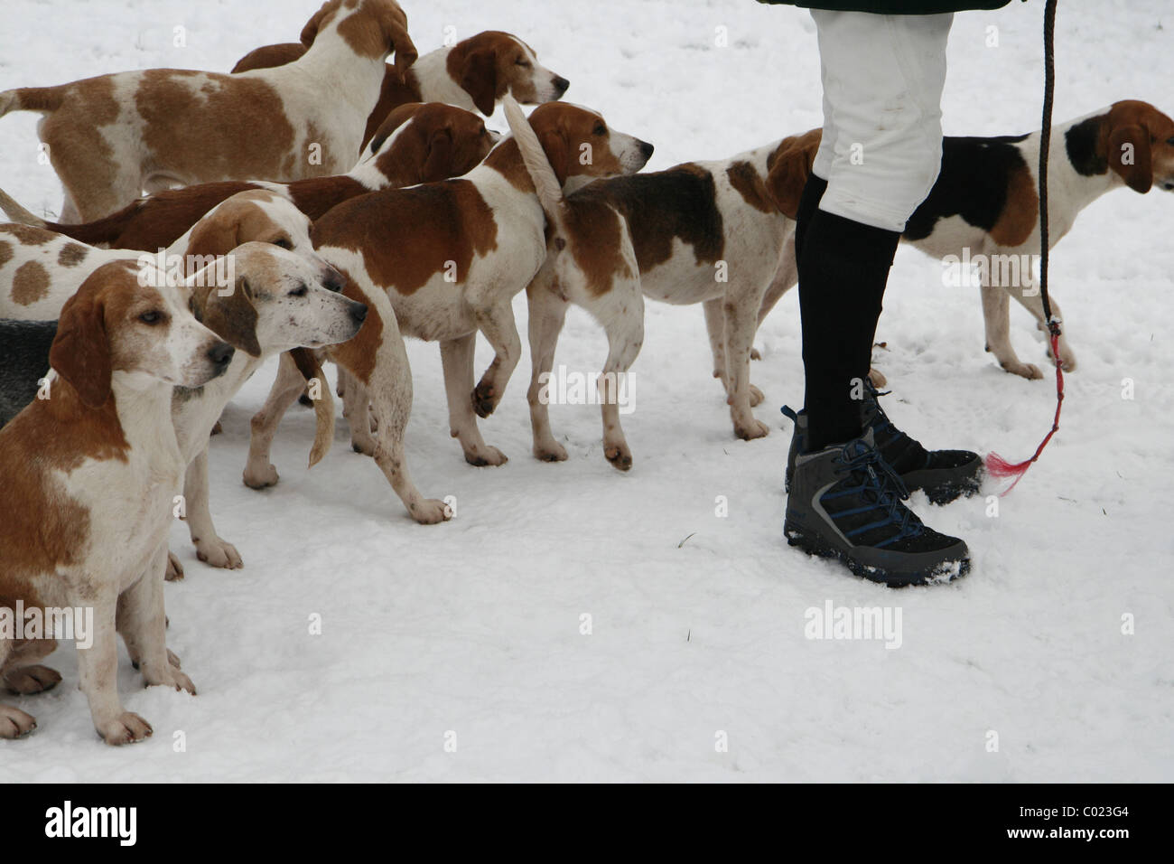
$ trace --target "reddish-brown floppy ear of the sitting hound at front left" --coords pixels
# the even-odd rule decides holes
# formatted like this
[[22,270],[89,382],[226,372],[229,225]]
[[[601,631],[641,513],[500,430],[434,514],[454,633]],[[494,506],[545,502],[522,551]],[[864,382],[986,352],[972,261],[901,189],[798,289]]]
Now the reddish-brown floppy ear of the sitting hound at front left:
[[92,292],[74,294],[61,309],[58,335],[49,348],[49,364],[89,408],[101,408],[110,398],[110,341],[104,315],[104,304]]

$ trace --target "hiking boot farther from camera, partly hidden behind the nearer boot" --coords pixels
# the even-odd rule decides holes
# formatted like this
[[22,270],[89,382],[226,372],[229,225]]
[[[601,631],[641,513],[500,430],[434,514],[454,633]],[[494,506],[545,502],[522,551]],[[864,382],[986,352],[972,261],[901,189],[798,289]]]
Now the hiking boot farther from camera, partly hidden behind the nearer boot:
[[[865,396],[861,403],[861,423],[872,430],[873,441],[880,456],[897,474],[909,491],[924,489],[932,504],[947,504],[962,496],[978,491],[983,480],[983,457],[970,450],[926,450],[916,440],[903,433],[884,413],[872,382],[864,380]],[[807,411],[796,414],[783,406],[783,414],[795,423],[791,449],[787,454],[787,488],[790,489],[795,457],[804,450]]]

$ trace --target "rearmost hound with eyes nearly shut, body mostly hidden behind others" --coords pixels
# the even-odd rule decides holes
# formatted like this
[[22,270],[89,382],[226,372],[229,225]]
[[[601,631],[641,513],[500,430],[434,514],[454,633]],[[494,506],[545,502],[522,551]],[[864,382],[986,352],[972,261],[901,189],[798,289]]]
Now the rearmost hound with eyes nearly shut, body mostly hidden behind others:
[[[303,42],[305,33],[302,34]],[[312,40],[311,40],[312,42]],[[256,48],[237,60],[232,72],[264,69],[294,62],[311,45],[285,42]],[[379,101],[367,118],[364,142],[387,113],[405,102],[448,102],[486,116],[506,93],[522,105],[562,98],[571,82],[538,62],[534,49],[512,33],[486,31],[453,46],[429,52],[410,69],[384,71]]]

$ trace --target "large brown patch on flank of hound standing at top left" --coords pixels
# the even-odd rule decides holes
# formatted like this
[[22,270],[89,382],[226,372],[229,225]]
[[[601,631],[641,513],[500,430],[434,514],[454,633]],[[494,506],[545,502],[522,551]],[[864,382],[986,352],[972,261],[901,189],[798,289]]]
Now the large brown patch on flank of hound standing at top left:
[[322,166],[310,166],[304,153],[291,159],[296,135],[282,98],[258,79],[147,69],[135,107],[157,169],[177,178],[282,181],[330,169],[325,152]]

